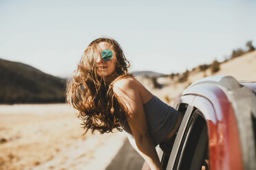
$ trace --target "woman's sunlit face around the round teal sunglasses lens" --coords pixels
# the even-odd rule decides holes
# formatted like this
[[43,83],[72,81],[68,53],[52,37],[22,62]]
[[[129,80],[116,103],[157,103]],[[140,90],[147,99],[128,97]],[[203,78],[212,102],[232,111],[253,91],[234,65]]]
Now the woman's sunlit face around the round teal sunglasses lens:
[[[100,49],[100,55],[96,60],[98,75],[111,75],[116,69],[116,53],[114,52],[114,48],[109,42],[100,42],[98,44],[98,47]],[[109,49],[113,52],[113,58],[111,60],[103,59],[102,53],[106,49]]]

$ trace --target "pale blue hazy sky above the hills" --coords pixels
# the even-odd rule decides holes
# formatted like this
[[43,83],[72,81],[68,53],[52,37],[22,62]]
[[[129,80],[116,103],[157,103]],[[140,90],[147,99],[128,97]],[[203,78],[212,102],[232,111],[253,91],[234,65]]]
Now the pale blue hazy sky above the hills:
[[182,73],[256,46],[256,1],[0,0],[0,58],[69,77],[89,42],[117,40],[131,71]]

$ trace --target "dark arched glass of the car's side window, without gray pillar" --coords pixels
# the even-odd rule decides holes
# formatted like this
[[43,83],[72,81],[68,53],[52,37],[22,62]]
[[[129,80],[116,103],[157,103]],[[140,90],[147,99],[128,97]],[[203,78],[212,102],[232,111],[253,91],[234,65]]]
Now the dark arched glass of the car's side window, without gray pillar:
[[200,110],[193,112],[182,141],[184,144],[174,169],[209,169],[207,126]]

